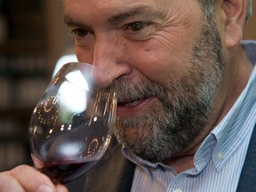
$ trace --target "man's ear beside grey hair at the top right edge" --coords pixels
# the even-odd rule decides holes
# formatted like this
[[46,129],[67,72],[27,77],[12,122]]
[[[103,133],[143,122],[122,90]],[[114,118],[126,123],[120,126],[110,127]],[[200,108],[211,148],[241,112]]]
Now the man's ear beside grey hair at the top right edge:
[[242,39],[247,4],[248,0],[223,0],[224,43],[227,48],[236,46]]

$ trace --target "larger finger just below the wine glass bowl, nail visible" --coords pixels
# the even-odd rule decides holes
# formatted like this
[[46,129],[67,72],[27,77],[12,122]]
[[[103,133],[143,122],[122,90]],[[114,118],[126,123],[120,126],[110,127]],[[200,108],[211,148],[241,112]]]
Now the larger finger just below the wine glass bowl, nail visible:
[[[41,172],[38,172],[33,167],[28,165],[20,165],[10,171],[12,177],[14,177],[22,188],[25,189],[26,192],[55,192],[57,191],[56,186],[52,183],[46,175]],[[58,187],[58,190],[65,191],[65,187]],[[63,189],[64,188],[64,189]],[[68,191],[68,190],[66,190]],[[65,192],[66,192],[65,191]]]

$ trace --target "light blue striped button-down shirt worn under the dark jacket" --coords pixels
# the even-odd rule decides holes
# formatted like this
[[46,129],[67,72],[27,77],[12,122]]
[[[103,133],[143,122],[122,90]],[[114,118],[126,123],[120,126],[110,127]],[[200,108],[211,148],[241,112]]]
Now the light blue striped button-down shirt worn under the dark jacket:
[[[255,66],[256,42],[244,41],[243,46]],[[137,164],[132,192],[236,191],[255,122],[256,67],[228,114],[198,148],[194,168],[177,174],[171,166],[152,164],[123,148],[124,156]]]

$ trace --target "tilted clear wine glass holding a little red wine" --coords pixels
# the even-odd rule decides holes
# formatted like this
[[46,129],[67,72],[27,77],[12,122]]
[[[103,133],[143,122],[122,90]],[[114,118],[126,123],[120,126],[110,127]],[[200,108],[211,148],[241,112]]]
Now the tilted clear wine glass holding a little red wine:
[[31,156],[36,168],[54,183],[75,180],[108,148],[116,117],[110,79],[106,70],[68,63],[36,104],[29,123]]

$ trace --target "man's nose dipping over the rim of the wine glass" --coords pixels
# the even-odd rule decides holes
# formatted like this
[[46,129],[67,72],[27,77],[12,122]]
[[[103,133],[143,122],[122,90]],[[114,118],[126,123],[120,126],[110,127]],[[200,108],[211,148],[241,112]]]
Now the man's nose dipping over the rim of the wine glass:
[[97,36],[94,44],[92,65],[104,70],[98,74],[101,84],[111,84],[121,76],[131,72],[126,60],[124,41],[111,32]]

